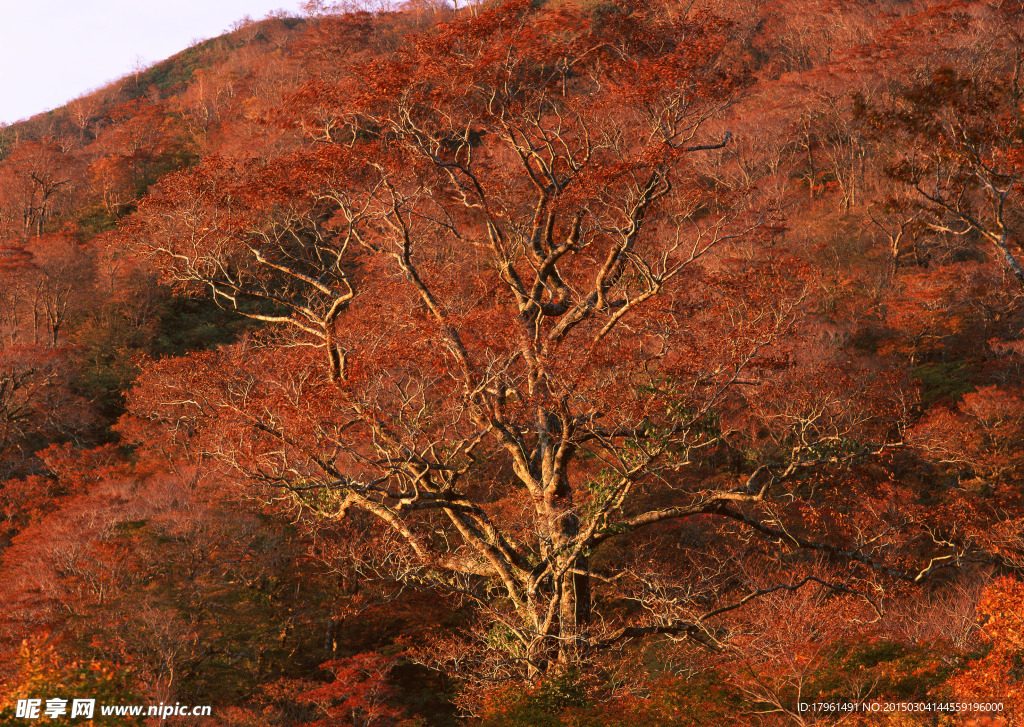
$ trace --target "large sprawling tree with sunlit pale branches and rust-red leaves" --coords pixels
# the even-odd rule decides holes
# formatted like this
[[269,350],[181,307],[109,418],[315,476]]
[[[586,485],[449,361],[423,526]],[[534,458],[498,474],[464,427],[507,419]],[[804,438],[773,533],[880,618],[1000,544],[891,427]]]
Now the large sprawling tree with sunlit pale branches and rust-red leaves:
[[[130,410],[164,430],[143,437],[358,529],[362,573],[471,606],[433,654],[467,676],[714,646],[768,593],[869,599],[873,573],[959,557],[862,497],[884,473],[847,469],[899,441],[903,383],[797,352],[801,266],[703,170],[739,82],[726,29],[663,10],[458,17],[295,94],[306,148],[171,175],[127,229],[166,280],[266,325],[147,367]],[[676,563],[687,528],[705,545]],[[888,562],[896,539],[939,553]],[[752,586],[748,544],[841,565]]]

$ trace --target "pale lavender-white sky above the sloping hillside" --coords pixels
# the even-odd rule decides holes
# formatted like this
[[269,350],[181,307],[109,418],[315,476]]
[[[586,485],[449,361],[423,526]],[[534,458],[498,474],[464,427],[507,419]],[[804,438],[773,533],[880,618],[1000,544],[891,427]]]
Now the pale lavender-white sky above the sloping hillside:
[[63,105],[300,0],[0,0],[0,124]]

